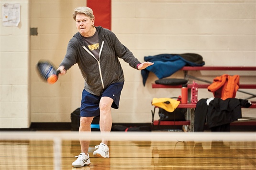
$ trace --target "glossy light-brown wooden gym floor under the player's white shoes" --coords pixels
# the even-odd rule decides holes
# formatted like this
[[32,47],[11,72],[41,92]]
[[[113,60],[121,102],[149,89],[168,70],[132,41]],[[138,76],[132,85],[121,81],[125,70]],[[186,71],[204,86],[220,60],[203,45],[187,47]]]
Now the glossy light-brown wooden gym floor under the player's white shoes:
[[[72,168],[80,153],[79,141],[62,142],[61,170],[255,170],[254,142],[110,141],[109,159],[94,158],[91,165]],[[0,170],[54,170],[52,141],[0,140]]]

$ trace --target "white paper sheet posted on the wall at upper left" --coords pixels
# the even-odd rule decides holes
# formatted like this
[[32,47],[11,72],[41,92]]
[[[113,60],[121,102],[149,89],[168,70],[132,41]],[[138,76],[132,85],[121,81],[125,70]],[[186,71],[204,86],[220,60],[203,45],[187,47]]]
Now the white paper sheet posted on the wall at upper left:
[[21,5],[5,3],[2,6],[3,26],[18,26],[21,20]]

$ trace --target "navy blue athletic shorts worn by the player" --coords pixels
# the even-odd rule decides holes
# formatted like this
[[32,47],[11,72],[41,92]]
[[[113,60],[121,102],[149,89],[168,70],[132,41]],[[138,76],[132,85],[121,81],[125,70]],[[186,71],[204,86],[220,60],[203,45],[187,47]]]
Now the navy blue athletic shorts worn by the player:
[[118,109],[123,82],[113,83],[103,90],[100,96],[93,95],[86,90],[83,90],[80,116],[81,117],[94,117],[100,115],[100,99],[101,97],[110,97],[113,99],[111,108]]

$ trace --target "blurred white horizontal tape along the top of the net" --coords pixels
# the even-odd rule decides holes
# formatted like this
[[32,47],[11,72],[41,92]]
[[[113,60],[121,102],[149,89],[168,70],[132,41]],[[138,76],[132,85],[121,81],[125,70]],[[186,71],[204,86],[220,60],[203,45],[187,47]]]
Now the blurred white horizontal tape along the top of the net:
[[1,131],[0,140],[256,141],[256,132]]

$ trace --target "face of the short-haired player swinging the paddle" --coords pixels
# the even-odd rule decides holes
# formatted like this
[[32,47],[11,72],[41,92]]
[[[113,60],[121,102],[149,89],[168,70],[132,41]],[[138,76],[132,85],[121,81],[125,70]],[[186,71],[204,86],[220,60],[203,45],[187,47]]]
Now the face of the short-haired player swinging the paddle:
[[91,37],[93,35],[94,19],[90,20],[85,14],[77,14],[76,23],[77,29],[82,36]]

